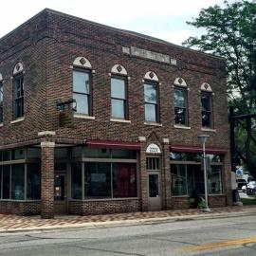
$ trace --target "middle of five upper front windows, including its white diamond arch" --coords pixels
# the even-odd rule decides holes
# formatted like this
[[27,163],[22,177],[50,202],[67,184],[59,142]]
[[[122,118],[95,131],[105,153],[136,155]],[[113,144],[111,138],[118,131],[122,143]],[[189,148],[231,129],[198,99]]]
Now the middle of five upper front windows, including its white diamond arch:
[[159,122],[158,78],[154,72],[144,77],[145,121]]

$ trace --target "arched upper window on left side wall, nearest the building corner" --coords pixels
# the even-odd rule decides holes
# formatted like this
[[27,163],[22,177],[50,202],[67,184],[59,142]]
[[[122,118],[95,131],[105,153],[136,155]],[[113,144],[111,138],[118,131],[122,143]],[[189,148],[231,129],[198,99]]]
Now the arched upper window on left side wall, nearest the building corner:
[[24,116],[24,76],[23,64],[18,63],[13,70],[13,118]]

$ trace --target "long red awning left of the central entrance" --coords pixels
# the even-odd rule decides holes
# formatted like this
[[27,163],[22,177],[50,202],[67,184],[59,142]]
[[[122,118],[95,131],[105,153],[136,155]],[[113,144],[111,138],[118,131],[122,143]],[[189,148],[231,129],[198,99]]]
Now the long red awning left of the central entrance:
[[124,142],[124,141],[111,141],[111,140],[91,140],[88,139],[86,144],[90,148],[111,148],[111,149],[130,149],[139,150],[139,142]]

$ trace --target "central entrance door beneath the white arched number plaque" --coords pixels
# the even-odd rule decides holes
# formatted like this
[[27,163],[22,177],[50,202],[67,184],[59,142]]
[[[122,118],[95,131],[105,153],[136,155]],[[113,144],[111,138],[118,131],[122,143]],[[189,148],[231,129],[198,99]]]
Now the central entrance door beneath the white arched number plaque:
[[161,210],[159,172],[148,173],[149,210]]

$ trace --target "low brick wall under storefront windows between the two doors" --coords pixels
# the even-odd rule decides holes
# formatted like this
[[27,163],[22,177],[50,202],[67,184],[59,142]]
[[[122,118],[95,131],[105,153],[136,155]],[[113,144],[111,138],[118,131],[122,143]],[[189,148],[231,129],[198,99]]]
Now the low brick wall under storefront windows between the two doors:
[[70,214],[79,215],[130,212],[140,210],[140,200],[69,201],[68,208]]

